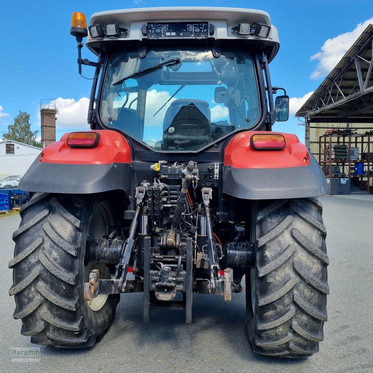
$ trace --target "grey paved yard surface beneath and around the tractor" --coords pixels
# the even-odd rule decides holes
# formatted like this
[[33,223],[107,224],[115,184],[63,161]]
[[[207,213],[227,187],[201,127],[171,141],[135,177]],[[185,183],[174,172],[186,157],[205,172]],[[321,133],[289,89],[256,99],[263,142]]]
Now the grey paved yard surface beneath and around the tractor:
[[[12,232],[20,217],[0,220],[0,372],[372,372],[373,196],[325,196],[324,222],[330,257],[328,321],[320,352],[305,360],[276,360],[251,351],[244,331],[245,294],[194,295],[193,322],[181,310],[153,310],[142,323],[142,294],[122,296],[113,326],[93,348],[41,347],[40,363],[11,362],[13,347],[34,347],[14,320],[8,290],[12,272]],[[174,357],[175,356],[175,357]]]

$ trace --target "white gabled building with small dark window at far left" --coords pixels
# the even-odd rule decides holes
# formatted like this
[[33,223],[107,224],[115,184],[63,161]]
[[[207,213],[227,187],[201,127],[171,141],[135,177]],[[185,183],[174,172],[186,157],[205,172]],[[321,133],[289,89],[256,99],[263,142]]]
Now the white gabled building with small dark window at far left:
[[19,141],[0,141],[0,180],[9,175],[23,175],[42,150]]

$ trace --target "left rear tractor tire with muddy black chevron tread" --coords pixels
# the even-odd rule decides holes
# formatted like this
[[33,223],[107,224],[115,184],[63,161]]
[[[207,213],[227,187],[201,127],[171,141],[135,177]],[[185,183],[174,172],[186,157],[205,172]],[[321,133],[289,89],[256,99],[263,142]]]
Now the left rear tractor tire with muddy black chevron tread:
[[[107,235],[114,215],[108,202],[84,195],[35,193],[21,208],[13,269],[15,319],[31,342],[81,348],[100,341],[115,316],[119,295],[84,300],[84,282],[93,268],[109,276],[103,264],[85,259],[90,239]],[[101,298],[100,298],[101,297]]]

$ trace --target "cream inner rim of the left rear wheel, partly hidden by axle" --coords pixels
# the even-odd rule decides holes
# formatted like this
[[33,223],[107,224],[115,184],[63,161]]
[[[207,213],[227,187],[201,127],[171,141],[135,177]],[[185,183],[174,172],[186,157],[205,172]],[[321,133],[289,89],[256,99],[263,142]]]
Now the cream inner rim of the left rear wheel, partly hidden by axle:
[[[101,201],[93,211],[87,235],[87,242],[92,239],[100,239],[103,238],[103,236],[106,236],[111,225],[114,225],[112,208],[106,201]],[[110,278],[109,269],[105,264],[89,262],[84,266],[84,282],[88,282],[90,273],[93,269],[98,269],[100,271],[100,279]],[[90,307],[92,311],[98,311],[104,306],[108,297],[109,294],[98,295],[94,300],[87,301],[88,307]]]

